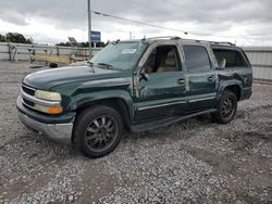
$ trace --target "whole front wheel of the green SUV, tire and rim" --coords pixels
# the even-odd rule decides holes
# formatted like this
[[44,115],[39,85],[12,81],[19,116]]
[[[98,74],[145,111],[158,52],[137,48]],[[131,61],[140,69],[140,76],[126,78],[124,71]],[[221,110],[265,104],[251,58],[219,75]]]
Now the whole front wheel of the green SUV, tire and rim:
[[122,130],[123,120],[115,110],[96,105],[78,115],[74,137],[84,155],[97,158],[106,156],[118,146]]

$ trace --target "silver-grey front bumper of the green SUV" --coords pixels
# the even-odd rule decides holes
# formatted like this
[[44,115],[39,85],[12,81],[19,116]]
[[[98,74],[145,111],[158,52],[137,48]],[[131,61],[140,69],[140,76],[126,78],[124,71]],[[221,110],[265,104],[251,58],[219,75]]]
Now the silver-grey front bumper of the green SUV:
[[45,135],[51,140],[61,142],[61,143],[71,143],[72,133],[73,133],[73,120],[70,123],[53,123],[47,124],[34,119],[25,114],[26,110],[22,106],[22,99],[18,97],[17,99],[17,109],[18,109],[18,118],[29,129]]

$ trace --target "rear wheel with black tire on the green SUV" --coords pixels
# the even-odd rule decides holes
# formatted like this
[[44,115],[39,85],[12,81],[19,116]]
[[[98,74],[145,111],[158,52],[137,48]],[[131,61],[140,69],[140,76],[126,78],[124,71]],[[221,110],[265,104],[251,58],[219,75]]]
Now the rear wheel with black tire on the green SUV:
[[213,114],[213,120],[219,124],[230,123],[237,111],[237,97],[230,90],[224,90],[218,105],[218,111]]

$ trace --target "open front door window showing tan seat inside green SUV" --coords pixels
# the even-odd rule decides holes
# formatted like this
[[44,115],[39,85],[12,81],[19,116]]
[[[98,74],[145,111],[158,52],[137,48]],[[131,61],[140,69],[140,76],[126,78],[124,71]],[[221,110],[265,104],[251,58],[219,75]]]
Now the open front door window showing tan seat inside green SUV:
[[151,73],[166,73],[178,71],[177,49],[175,46],[157,47],[145,63],[145,71]]

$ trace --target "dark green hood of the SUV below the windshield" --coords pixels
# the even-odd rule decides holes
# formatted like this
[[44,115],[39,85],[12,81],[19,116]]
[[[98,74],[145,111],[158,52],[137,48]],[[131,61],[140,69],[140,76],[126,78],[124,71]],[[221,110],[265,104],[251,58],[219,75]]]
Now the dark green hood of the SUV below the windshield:
[[67,66],[29,74],[23,82],[37,89],[50,90],[52,87],[69,82],[118,78],[122,77],[123,73],[89,65]]

